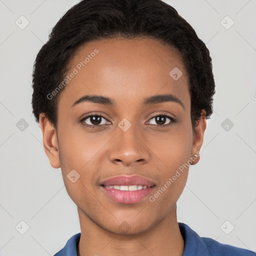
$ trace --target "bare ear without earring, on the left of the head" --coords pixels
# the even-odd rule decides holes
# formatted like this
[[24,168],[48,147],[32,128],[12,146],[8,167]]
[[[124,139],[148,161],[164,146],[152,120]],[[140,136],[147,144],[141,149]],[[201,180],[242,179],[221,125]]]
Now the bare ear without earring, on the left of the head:
[[50,165],[53,168],[59,168],[60,162],[56,130],[44,113],[39,114],[39,123],[42,131],[44,152],[50,161]]

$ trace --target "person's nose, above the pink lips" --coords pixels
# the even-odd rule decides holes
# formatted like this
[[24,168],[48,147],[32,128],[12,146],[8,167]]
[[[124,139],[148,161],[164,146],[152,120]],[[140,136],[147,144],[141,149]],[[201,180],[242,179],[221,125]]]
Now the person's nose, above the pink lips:
[[117,134],[111,141],[110,161],[115,164],[129,166],[142,164],[148,161],[149,148],[141,132],[135,129],[135,125],[123,131],[117,130]]

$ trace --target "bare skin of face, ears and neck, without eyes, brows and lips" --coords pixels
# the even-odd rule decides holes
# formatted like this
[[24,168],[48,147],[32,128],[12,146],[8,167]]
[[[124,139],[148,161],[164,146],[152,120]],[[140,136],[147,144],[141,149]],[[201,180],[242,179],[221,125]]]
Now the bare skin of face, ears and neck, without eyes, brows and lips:
[[[70,61],[70,71],[94,49],[99,52],[68,82],[60,94],[57,129],[40,114],[43,145],[50,164],[61,167],[67,193],[77,205],[81,227],[78,255],[173,255],[181,256],[184,241],[178,228],[176,201],[188,168],[158,197],[133,204],[107,197],[100,182],[126,174],[146,177],[156,186],[150,195],[200,150],[206,128],[205,111],[194,133],[190,119],[188,76],[179,52],[150,38],[94,40],[82,45]],[[172,79],[170,70],[182,75]],[[69,72],[68,72],[69,73]],[[145,97],[173,94],[177,102],[142,105]],[[74,101],[86,94],[110,97],[114,106]],[[86,114],[101,113],[99,126]],[[166,117],[163,124],[154,117]],[[123,131],[118,123],[131,126]],[[160,126],[165,125],[165,127]],[[191,164],[197,163],[199,157]],[[80,178],[72,183],[67,174],[75,169]],[[126,221],[127,230],[121,228]],[[120,225],[122,223],[122,225]],[[97,254],[96,254],[97,253]]]

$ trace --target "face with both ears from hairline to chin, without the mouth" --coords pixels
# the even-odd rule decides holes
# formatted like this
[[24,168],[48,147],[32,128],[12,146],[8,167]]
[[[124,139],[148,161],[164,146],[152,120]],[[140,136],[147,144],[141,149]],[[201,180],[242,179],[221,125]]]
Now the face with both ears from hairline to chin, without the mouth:
[[[45,152],[61,167],[79,217],[114,233],[126,225],[134,234],[174,214],[188,174],[182,164],[199,151],[205,129],[202,118],[192,133],[188,76],[178,51],[149,38],[94,40],[78,49],[67,75],[57,130],[43,114],[40,123]],[[137,201],[114,199],[102,183],[119,175],[139,175],[154,186]]]

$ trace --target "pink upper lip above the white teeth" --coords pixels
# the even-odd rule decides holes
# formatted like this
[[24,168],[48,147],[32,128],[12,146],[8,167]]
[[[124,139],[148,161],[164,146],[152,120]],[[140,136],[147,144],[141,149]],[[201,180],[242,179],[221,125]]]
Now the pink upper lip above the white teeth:
[[155,183],[147,178],[144,178],[139,175],[120,175],[108,178],[102,182],[104,186],[110,185],[146,185],[147,187],[155,185]]

